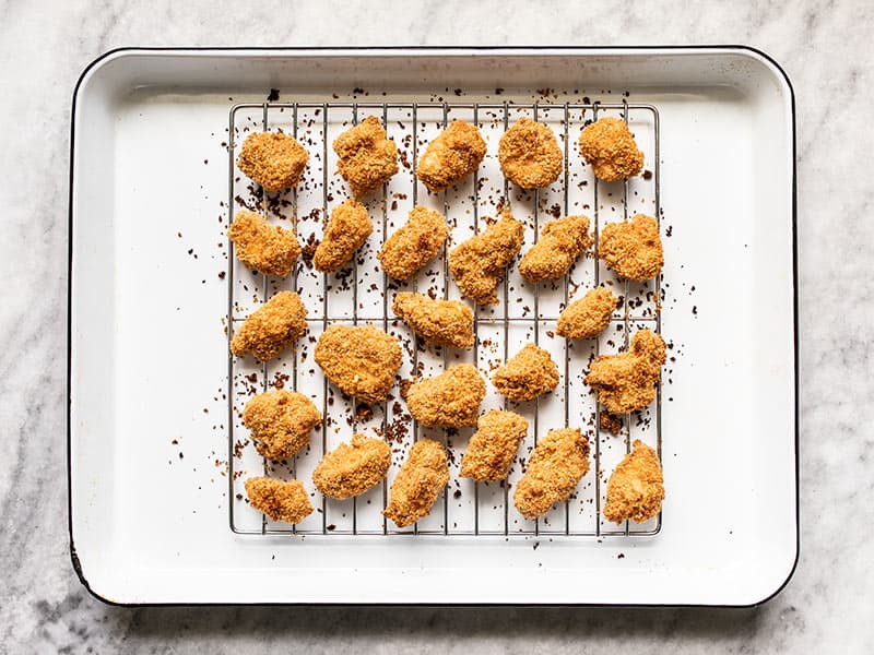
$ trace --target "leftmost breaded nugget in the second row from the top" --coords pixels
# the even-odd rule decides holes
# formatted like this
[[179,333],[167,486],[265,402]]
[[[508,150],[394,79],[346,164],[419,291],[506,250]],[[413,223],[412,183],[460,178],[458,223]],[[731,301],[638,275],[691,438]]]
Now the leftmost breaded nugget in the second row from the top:
[[285,277],[300,257],[293,231],[272,226],[260,214],[240,210],[227,229],[239,261],[258,273]]

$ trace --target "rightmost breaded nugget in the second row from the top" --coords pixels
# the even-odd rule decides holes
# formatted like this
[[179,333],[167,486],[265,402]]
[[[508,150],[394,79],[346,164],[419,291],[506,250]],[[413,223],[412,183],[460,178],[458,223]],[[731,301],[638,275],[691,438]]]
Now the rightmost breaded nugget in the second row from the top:
[[652,279],[664,264],[658,222],[637,214],[627,223],[607,223],[598,239],[598,257],[619,277]]

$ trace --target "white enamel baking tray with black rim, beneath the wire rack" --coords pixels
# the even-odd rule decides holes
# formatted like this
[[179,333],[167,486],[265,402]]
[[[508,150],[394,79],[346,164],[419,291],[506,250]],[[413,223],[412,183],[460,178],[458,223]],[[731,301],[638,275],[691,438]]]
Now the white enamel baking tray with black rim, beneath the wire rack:
[[[674,348],[662,385],[668,497],[651,535],[446,537],[439,523],[423,531],[436,534],[418,535],[240,534],[261,520],[226,476],[235,391],[225,310],[228,284],[247,284],[226,275],[227,124],[235,104],[262,103],[272,88],[283,103],[354,96],[560,107],[627,98],[658,109],[662,332]],[[73,565],[95,596],[130,605],[744,606],[791,576],[799,548],[793,95],[763,53],[123,49],[83,73],[72,129],[70,531]],[[651,203],[643,187],[630,189],[641,210]],[[602,213],[613,200],[602,194]],[[306,234],[300,224],[298,231]],[[330,439],[347,437],[340,431]],[[624,452],[614,445],[602,445],[614,456],[602,462],[601,487]],[[319,455],[300,457],[308,487],[302,471]],[[575,516],[592,514],[584,499],[595,475],[582,480]],[[460,496],[463,516],[469,496]],[[228,524],[232,503],[243,503],[239,525]],[[324,511],[345,519],[338,508]]]

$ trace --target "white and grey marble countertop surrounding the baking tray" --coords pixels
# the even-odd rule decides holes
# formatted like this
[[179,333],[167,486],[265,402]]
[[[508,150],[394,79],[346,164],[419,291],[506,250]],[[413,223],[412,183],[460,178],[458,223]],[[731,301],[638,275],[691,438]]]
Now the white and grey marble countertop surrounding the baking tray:
[[[874,7],[568,4],[0,4],[0,652],[874,652],[874,311],[860,283],[874,239],[860,120],[874,102]],[[125,609],[88,595],[70,565],[63,452],[70,97],[91,60],[130,45],[722,43],[773,56],[798,100],[802,552],[777,598],[744,610]]]

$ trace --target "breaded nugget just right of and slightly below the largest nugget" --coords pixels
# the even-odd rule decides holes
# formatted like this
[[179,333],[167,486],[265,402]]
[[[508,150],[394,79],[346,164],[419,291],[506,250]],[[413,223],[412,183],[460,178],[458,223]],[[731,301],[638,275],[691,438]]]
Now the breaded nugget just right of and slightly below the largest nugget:
[[476,425],[485,381],[470,364],[450,366],[436,378],[411,384],[406,392],[410,414],[429,428],[463,428]]

